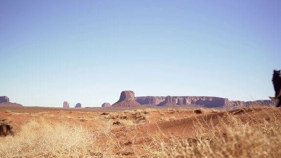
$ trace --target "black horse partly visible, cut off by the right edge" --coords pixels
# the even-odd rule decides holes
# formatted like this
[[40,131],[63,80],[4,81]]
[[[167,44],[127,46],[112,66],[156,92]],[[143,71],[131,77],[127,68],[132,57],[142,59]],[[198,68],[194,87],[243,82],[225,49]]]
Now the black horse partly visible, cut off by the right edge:
[[279,102],[276,107],[281,106],[281,76],[280,75],[281,75],[281,70],[273,71],[272,82],[273,82],[273,86],[274,86],[274,90],[275,90],[275,99],[279,99]]

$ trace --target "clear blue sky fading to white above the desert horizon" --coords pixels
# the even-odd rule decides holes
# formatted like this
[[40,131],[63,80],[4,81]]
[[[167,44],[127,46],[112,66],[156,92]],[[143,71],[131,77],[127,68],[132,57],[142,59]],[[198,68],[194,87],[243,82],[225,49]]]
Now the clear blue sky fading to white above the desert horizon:
[[100,106],[136,96],[273,96],[281,0],[0,0],[0,96]]

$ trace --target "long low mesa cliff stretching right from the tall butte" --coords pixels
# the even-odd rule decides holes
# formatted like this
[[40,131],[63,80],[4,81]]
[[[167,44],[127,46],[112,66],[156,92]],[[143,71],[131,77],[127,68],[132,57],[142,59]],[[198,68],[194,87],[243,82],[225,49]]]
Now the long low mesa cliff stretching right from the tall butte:
[[233,106],[253,106],[265,105],[272,106],[276,103],[272,100],[256,100],[256,101],[230,101],[220,97],[192,97],[192,96],[167,96],[167,97],[136,97],[136,101],[141,105],[156,106],[204,106],[204,107],[233,107]]

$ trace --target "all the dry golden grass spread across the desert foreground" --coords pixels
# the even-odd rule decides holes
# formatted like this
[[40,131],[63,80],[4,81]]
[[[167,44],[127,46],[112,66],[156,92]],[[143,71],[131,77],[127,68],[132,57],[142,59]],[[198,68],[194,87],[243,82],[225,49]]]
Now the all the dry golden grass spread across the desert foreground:
[[[203,113],[212,112],[201,109]],[[241,109],[243,111],[243,109]],[[49,123],[45,120],[29,121],[15,136],[0,138],[0,157],[185,157],[185,158],[278,158],[281,155],[281,122],[250,118],[243,121],[231,113],[219,119],[216,125],[194,114],[196,136],[176,138],[163,133],[149,135],[146,145],[130,142],[130,148],[112,132],[113,121],[120,126],[139,126],[150,121],[153,110],[132,110],[92,118],[103,122],[96,129],[66,123]],[[171,111],[169,110],[169,113]],[[245,111],[243,111],[245,112]],[[246,112],[245,112],[246,113]],[[68,117],[67,117],[68,118]],[[162,117],[175,120],[176,117]],[[166,139],[169,138],[169,139]],[[142,149],[142,152],[138,152]]]

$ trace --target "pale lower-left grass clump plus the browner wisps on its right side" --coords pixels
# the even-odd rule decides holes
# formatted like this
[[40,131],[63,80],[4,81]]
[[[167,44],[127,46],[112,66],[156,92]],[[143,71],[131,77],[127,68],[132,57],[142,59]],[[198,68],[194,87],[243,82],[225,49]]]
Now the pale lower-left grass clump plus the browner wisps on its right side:
[[[120,146],[110,125],[95,132],[82,126],[29,121],[14,137],[0,138],[0,157],[108,157]],[[98,139],[104,139],[102,143]]]

